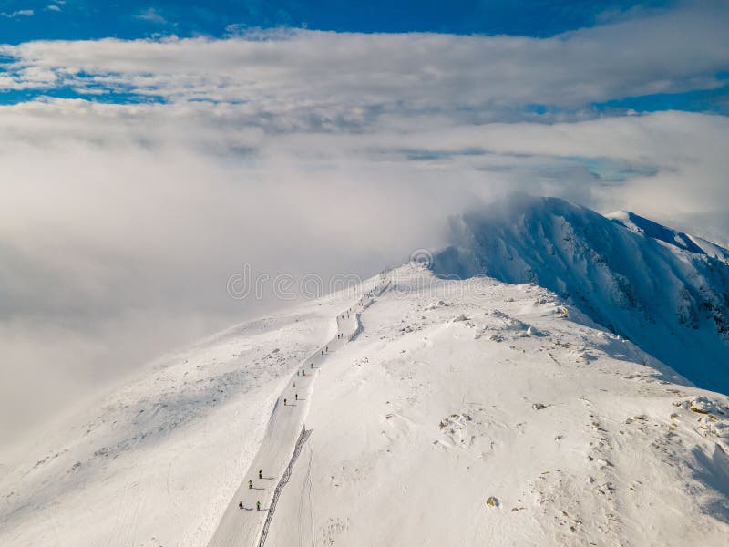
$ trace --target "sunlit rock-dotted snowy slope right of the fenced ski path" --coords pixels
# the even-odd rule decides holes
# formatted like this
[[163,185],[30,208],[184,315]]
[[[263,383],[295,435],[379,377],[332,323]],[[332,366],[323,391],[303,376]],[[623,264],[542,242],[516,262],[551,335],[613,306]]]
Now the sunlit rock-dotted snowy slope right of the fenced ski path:
[[393,276],[266,545],[726,544],[727,397],[534,284]]

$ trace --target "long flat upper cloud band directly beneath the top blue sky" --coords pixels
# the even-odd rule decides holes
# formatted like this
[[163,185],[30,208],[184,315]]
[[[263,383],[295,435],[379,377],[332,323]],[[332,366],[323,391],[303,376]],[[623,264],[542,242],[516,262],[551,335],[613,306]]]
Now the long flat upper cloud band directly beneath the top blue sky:
[[[161,18],[151,9],[139,16]],[[175,101],[493,117],[534,103],[581,108],[718,87],[715,74],[729,68],[727,26],[727,10],[685,10],[551,38],[259,31],[225,40],[33,42],[3,53],[16,69],[46,67],[76,88],[102,82]]]

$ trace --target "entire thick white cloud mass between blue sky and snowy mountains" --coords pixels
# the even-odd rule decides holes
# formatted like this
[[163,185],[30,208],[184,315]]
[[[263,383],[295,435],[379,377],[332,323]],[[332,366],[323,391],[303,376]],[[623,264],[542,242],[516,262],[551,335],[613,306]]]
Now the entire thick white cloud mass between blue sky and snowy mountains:
[[498,192],[725,237],[729,119],[590,105],[722,85],[727,23],[703,8],[547,39],[278,31],[3,47],[0,88],[78,98],[0,107],[0,438],[285,304],[231,298],[246,263],[374,274],[444,243],[447,215]]

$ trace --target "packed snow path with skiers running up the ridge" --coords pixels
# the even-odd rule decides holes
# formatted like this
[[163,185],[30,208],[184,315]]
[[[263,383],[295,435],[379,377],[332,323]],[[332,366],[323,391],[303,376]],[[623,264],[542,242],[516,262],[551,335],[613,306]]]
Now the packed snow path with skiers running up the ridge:
[[[292,454],[296,449],[297,439],[302,438],[304,418],[313,393],[313,382],[328,357],[358,335],[361,330],[359,314],[372,304],[372,296],[381,294],[386,287],[387,284],[378,285],[355,306],[337,315],[338,335],[319,348],[313,356],[305,359],[293,374],[276,401],[261,448],[246,475],[241,477],[241,486],[225,510],[209,547],[262,545],[263,525],[269,511],[272,510],[274,491],[282,474],[293,460]],[[303,439],[305,440],[306,436]],[[261,479],[259,470],[262,470]],[[249,480],[252,480],[252,488],[249,486]],[[242,509],[239,506],[241,502]],[[260,510],[256,507],[257,502],[261,503]]]

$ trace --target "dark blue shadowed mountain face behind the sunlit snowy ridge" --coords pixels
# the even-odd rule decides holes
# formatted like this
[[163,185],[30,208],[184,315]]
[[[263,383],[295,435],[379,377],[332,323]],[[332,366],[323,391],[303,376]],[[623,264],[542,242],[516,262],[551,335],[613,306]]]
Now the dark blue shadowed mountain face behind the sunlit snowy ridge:
[[729,251],[631,212],[512,196],[452,222],[441,276],[535,283],[672,366],[729,393]]

